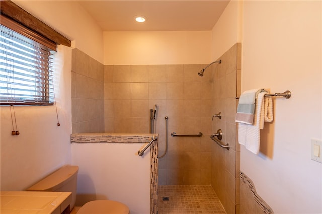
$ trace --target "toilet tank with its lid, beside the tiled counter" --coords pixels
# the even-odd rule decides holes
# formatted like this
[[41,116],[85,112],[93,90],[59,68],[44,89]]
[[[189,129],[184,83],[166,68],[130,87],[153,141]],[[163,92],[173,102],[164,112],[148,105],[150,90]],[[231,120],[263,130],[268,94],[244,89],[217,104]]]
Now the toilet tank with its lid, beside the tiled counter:
[[71,210],[76,202],[77,174],[78,166],[63,166],[33,186],[29,187],[27,191],[71,192]]

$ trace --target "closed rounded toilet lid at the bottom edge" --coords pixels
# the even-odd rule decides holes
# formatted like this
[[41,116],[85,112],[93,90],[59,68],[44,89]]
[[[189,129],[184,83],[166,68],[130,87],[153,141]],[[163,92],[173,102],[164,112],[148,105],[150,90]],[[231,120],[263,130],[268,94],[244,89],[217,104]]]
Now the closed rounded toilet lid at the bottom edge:
[[129,208],[123,203],[112,200],[94,200],[90,201],[77,214],[129,214]]

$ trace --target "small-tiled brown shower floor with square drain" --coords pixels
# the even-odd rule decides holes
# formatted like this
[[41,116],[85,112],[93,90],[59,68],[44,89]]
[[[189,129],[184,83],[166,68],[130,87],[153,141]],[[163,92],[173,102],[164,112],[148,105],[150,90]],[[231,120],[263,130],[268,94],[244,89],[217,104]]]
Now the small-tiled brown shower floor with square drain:
[[199,213],[226,213],[211,186],[158,186],[158,214]]

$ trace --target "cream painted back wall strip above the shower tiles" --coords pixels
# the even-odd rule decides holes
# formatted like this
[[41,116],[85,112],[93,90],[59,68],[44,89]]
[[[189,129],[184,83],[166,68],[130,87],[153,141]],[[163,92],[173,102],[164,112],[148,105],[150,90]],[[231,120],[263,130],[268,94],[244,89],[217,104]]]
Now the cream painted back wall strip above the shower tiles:
[[104,64],[208,64],[210,44],[211,31],[104,32]]

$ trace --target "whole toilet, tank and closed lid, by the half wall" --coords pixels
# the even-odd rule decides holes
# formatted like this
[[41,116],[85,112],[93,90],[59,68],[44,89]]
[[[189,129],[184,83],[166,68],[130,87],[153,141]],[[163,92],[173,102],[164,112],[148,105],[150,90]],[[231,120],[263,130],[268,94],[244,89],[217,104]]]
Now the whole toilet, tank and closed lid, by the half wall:
[[[77,193],[78,166],[66,165],[42,179],[27,191],[71,192],[70,211],[74,208]],[[112,200],[95,200],[84,204],[77,214],[130,214],[129,208]]]

